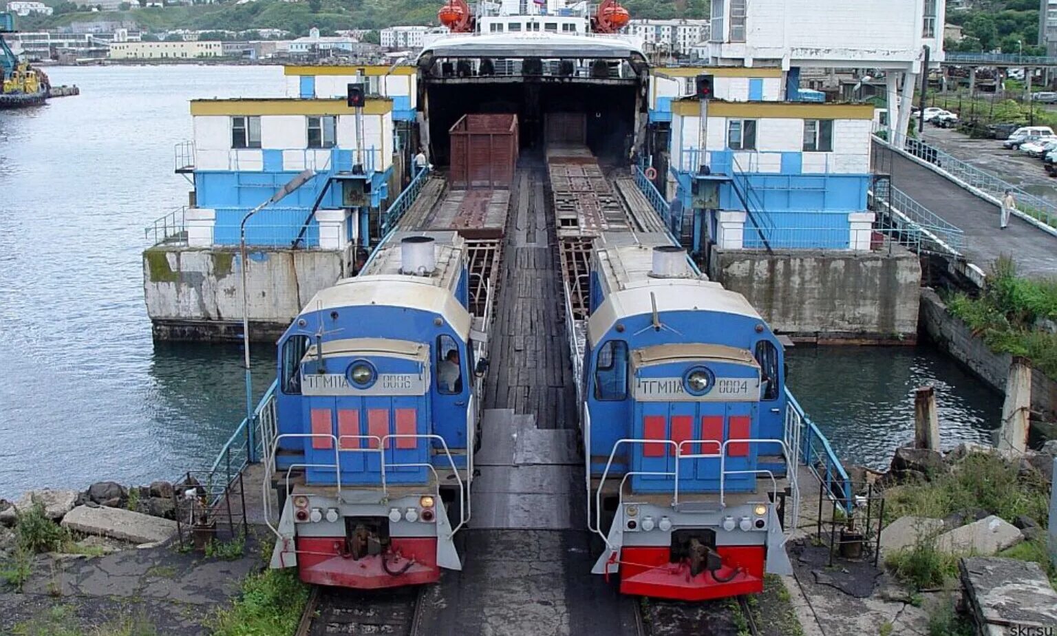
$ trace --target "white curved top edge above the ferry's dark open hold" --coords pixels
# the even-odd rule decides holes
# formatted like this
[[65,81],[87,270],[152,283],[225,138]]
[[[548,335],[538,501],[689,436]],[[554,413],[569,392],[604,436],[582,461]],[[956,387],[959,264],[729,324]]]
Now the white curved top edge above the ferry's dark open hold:
[[644,57],[642,46],[620,35],[546,32],[451,34],[427,44],[419,57],[540,57],[629,59]]

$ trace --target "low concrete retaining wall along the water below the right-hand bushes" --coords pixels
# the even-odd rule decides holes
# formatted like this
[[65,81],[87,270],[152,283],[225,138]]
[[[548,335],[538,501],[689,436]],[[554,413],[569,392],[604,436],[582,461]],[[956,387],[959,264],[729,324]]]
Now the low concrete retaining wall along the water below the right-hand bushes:
[[[947,312],[947,305],[932,289],[922,291],[921,323],[922,334],[997,391],[1005,393],[1013,356],[988,349],[983,338],[975,336],[967,324]],[[1057,420],[1057,382],[1038,370],[1032,371],[1032,409],[1050,422]]]

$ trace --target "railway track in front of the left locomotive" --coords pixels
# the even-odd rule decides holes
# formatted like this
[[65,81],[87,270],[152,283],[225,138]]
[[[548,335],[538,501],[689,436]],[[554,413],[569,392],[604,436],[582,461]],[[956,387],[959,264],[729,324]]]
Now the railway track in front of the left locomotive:
[[364,592],[312,587],[296,636],[418,636],[422,630],[422,594],[412,588]]

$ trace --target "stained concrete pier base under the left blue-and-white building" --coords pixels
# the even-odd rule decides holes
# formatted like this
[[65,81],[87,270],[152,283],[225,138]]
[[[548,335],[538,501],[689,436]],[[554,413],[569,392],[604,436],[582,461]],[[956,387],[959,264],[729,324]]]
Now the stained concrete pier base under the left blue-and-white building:
[[[341,277],[337,250],[249,251],[251,338],[281,334],[316,292]],[[242,335],[242,272],[238,249],[160,245],[144,251],[144,291],[154,337],[229,340]]]

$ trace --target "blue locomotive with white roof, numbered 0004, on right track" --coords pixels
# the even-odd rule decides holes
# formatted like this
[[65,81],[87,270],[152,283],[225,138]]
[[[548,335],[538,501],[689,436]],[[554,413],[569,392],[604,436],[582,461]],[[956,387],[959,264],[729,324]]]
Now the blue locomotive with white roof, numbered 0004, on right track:
[[607,231],[572,334],[590,526],[606,543],[593,572],[619,573],[626,594],[683,600],[789,574],[779,506],[786,484],[795,493],[798,442],[782,347],[745,298],[666,235]]

